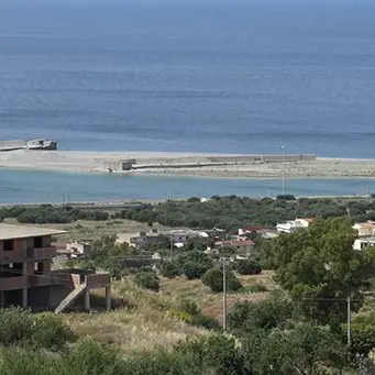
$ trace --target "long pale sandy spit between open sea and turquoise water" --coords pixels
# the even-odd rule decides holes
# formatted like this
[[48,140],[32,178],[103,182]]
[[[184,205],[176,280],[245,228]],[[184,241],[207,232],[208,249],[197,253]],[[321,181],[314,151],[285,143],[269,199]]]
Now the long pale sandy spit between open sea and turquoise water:
[[[375,177],[375,159],[317,157],[311,161],[251,163],[246,159],[247,156],[251,155],[21,150],[0,153],[0,167],[109,173],[108,165],[110,163],[134,158],[136,161],[135,168],[140,167],[140,169],[123,173],[272,178],[282,177],[284,172],[286,178]],[[218,163],[223,159],[225,163]]]

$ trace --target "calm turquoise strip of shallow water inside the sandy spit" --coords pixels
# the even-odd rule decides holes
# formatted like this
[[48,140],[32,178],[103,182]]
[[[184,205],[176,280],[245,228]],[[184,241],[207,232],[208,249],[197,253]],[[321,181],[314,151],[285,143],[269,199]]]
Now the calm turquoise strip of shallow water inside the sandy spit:
[[[296,196],[365,195],[375,179],[288,179],[286,192]],[[167,176],[119,176],[0,169],[0,202],[118,201],[192,196],[265,197],[282,192],[279,179],[225,179]]]

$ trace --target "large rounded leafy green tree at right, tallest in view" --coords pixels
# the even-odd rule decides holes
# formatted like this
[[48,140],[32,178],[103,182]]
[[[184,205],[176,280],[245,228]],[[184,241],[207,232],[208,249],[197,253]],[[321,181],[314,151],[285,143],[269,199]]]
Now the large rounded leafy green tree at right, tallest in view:
[[356,232],[349,219],[318,219],[307,229],[282,234],[268,249],[276,280],[308,317],[339,324],[363,302],[362,288],[374,272],[374,250],[353,250]]

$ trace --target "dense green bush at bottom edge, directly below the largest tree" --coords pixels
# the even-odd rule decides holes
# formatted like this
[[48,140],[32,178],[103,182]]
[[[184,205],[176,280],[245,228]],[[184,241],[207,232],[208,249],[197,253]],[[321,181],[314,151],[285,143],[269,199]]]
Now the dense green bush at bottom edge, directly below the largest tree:
[[[345,363],[345,349],[328,327],[298,323],[269,334],[253,332],[242,340],[246,368],[254,375],[327,375]],[[331,372],[330,372],[331,373]]]

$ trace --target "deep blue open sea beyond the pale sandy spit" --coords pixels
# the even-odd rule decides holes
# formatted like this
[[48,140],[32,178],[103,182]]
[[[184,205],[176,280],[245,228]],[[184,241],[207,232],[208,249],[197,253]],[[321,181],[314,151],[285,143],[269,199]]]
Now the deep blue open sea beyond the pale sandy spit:
[[374,14],[370,0],[1,0],[0,140],[374,157]]

